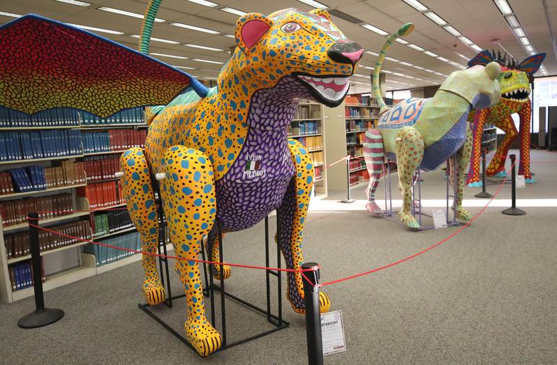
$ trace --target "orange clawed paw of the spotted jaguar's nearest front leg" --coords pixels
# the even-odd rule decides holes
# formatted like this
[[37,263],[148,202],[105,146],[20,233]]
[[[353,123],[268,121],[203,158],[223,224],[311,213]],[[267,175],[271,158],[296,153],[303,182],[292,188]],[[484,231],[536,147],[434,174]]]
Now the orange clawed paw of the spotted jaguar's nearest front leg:
[[209,356],[221,348],[221,334],[214,329],[205,316],[188,318],[184,328],[187,341],[194,346],[199,355]]

